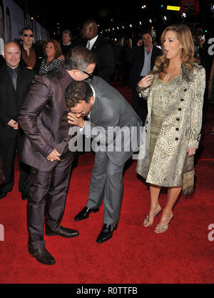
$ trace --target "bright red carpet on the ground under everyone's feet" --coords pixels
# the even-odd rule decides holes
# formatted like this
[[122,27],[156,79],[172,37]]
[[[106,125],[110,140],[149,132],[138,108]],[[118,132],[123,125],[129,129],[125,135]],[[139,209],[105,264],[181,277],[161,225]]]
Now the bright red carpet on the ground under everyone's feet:
[[[124,87],[121,91],[127,91]],[[214,136],[208,135],[213,123],[213,109],[208,109],[203,126],[203,152],[200,159],[214,159]],[[208,120],[208,122],[207,122]],[[208,145],[207,145],[208,144]],[[102,227],[103,209],[83,222],[73,217],[86,204],[93,167],[93,154],[78,158],[73,169],[62,225],[78,229],[79,237],[45,237],[46,248],[56,265],[39,264],[27,251],[26,202],[16,183],[8,196],[0,200],[0,224],[4,242],[0,242],[1,284],[210,284],[214,280],[214,167],[213,160],[196,164],[195,194],[180,197],[173,211],[168,232],[155,234],[154,226],[143,227],[149,209],[149,191],[136,177],[136,163],[129,163],[124,174],[121,220],[113,238],[96,244]],[[165,206],[166,194],[161,194]],[[94,296],[95,297],[95,296]]]

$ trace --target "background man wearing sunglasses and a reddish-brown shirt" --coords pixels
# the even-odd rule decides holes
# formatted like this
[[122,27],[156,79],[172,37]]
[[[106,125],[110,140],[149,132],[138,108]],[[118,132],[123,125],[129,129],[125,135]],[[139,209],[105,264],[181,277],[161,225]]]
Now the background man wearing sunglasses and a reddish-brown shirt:
[[34,44],[34,33],[29,27],[21,30],[21,61],[22,66],[28,69],[34,69],[39,73],[40,64],[44,56],[41,46]]

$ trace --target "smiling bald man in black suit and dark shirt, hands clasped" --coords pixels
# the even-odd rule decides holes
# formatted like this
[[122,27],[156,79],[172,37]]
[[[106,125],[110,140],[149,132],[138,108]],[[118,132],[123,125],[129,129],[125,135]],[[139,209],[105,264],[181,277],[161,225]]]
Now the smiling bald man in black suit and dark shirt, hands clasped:
[[14,159],[19,157],[19,191],[22,199],[29,192],[29,167],[20,162],[23,131],[19,127],[18,113],[29,92],[34,71],[19,65],[21,51],[16,41],[4,46],[4,65],[0,69],[0,156],[4,162],[6,183],[0,187],[0,199],[11,192],[14,185]]

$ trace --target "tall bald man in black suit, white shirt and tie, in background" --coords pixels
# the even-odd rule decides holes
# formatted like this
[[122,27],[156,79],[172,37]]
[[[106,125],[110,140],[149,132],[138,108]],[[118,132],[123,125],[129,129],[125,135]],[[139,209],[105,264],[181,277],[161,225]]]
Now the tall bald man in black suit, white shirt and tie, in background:
[[82,40],[78,41],[78,44],[86,46],[97,57],[97,64],[93,74],[109,82],[115,69],[111,44],[108,44],[98,36],[98,26],[94,20],[89,19],[85,21],[81,32]]

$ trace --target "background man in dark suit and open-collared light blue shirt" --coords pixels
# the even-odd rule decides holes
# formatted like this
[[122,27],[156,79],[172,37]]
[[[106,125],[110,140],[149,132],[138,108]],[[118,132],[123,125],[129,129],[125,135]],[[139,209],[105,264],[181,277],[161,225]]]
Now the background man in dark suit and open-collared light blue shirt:
[[133,109],[141,117],[143,124],[148,113],[147,103],[142,100],[136,91],[138,81],[146,76],[156,64],[157,56],[161,56],[163,52],[157,46],[153,46],[153,36],[150,31],[144,31],[142,39],[133,47],[129,55],[129,61],[132,64],[129,76],[129,84],[132,87]]

